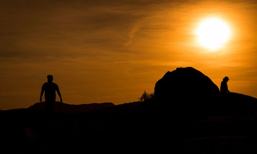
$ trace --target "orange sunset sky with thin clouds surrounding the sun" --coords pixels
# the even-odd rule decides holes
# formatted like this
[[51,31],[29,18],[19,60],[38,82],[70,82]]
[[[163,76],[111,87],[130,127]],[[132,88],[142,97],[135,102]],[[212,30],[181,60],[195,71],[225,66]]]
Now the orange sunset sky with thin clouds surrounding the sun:
[[[256,14],[254,1],[1,0],[0,109],[39,102],[48,74],[65,103],[133,102],[177,67],[257,97]],[[195,34],[209,17],[231,30],[217,50]]]

